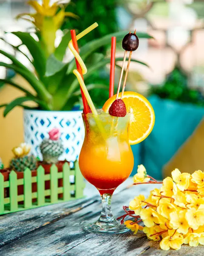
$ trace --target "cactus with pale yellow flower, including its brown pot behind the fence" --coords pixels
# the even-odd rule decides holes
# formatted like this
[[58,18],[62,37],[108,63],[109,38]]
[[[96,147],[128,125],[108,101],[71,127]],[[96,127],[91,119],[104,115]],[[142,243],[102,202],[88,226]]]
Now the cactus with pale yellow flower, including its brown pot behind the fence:
[[[30,150],[31,146],[26,143],[21,143],[12,150],[14,157],[10,161],[9,169],[16,172],[17,179],[23,179],[26,168],[32,171],[32,177],[37,176],[37,159],[34,155],[29,155]],[[17,189],[18,195],[23,195],[23,185],[19,185]],[[32,192],[37,192],[37,183],[32,183]]]

